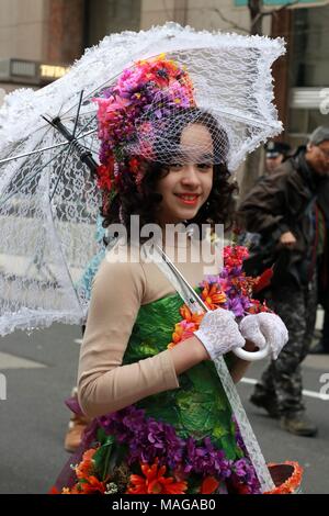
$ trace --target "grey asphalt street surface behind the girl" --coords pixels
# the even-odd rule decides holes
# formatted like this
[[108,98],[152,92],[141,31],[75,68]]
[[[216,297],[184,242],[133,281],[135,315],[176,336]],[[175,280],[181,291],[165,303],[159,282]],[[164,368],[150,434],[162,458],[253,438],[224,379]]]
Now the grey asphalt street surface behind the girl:
[[[76,383],[80,328],[53,325],[31,336],[15,332],[0,339],[0,493],[46,493],[69,457],[63,448],[69,420],[64,400]],[[248,402],[264,362],[252,364],[238,389],[266,461],[297,460],[305,468],[305,493],[329,494],[329,401],[319,397],[329,356],[304,362],[308,415],[317,438],[296,437]],[[7,383],[7,400],[3,396]],[[329,380],[327,380],[329,383]],[[329,394],[329,388],[327,389]]]

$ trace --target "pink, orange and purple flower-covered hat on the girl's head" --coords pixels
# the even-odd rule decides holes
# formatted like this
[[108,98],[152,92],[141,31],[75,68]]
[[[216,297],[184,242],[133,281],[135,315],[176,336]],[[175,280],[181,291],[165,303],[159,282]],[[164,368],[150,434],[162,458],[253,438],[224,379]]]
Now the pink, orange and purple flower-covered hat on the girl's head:
[[94,101],[101,141],[98,186],[109,192],[120,189],[124,173],[140,183],[144,160],[161,161],[160,139],[163,161],[168,121],[196,105],[188,71],[164,54],[126,68]]

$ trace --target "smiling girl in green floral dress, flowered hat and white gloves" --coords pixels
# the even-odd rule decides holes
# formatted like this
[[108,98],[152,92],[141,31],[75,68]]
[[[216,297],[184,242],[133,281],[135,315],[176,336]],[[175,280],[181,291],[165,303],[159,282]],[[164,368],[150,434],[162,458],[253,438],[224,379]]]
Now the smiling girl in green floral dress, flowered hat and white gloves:
[[[107,251],[93,281],[75,407],[93,422],[56,487],[65,494],[260,493],[211,359],[225,356],[237,382],[248,362],[231,351],[269,344],[275,358],[286,330],[252,300],[258,280],[242,272],[245,248],[226,247],[222,272],[205,277],[205,263],[189,255],[203,236],[185,231],[188,223],[229,224],[229,141],[196,106],[186,70],[166,56],[124,70],[95,101],[104,225],[122,224],[132,250],[131,215],[139,215],[141,227],[157,223],[163,231],[183,223],[177,227],[186,238],[164,238],[163,248],[211,312],[191,313],[156,263],[139,255],[117,260],[117,246]],[[239,325],[235,316],[242,317]]]

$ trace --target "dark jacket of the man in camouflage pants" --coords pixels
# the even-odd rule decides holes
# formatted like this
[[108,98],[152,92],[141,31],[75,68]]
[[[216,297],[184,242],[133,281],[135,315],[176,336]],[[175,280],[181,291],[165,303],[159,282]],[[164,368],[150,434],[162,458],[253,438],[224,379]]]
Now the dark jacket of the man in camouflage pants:
[[[305,147],[284,161],[277,169],[263,176],[238,211],[238,218],[248,232],[260,233],[261,245],[273,244],[276,256],[285,253],[285,270],[280,274],[284,283],[306,285],[316,267],[315,204],[319,192],[328,189],[329,180],[314,172],[306,162]],[[280,236],[292,232],[296,245],[280,247]]]

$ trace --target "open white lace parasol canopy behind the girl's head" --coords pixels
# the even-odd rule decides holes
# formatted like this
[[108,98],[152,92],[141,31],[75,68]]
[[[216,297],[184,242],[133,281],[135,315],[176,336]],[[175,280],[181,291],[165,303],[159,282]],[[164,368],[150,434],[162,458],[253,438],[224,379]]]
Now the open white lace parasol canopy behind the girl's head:
[[124,68],[161,53],[186,66],[197,106],[220,121],[230,170],[282,131],[271,66],[284,53],[283,41],[174,23],[106,36],[56,82],[7,96],[0,109],[0,335],[84,321],[89,300],[80,279],[102,246],[94,239],[101,198],[90,170],[77,145],[42,116],[60,117],[97,160],[92,99]]

